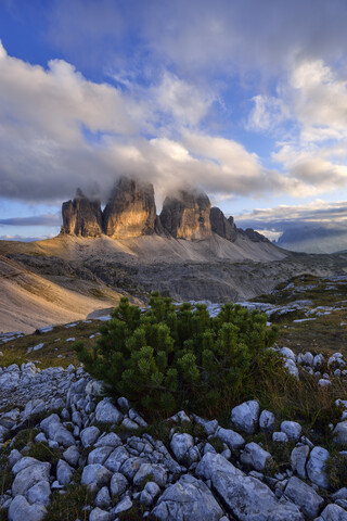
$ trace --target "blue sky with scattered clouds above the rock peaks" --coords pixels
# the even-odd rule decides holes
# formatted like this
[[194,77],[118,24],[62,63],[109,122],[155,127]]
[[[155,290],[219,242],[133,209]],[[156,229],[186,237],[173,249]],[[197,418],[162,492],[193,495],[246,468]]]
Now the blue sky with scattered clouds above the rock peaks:
[[271,238],[347,224],[346,26],[345,0],[0,0],[0,238],[120,175]]

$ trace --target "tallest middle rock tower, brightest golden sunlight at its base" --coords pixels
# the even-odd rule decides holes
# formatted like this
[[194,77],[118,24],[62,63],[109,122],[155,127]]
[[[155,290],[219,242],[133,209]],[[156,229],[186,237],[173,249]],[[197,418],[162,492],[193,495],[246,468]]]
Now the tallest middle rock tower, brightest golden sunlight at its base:
[[121,177],[103,212],[104,233],[113,239],[149,236],[155,220],[153,185]]

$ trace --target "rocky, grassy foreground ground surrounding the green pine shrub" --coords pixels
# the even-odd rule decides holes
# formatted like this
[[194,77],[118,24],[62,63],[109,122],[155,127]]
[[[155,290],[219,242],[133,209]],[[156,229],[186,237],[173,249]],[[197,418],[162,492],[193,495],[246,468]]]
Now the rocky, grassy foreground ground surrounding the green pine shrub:
[[98,320],[0,335],[0,520],[347,520],[346,276],[242,305],[282,326],[275,348],[322,415],[274,396],[227,418],[143,418],[77,365]]

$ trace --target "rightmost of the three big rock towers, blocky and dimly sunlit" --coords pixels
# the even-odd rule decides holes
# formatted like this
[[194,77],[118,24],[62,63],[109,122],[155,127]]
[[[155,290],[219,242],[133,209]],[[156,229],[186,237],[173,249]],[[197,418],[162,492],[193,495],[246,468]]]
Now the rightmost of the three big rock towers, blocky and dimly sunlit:
[[205,193],[180,190],[165,199],[160,221],[176,239],[206,239],[211,234],[209,199]]

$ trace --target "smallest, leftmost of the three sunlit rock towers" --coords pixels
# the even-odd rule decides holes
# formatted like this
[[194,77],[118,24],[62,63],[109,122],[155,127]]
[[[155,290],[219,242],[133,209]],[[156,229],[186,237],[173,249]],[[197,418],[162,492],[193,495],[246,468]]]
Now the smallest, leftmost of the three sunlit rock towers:
[[74,201],[63,203],[62,215],[63,234],[93,238],[102,233],[100,201],[90,201],[80,189],[77,190]]

